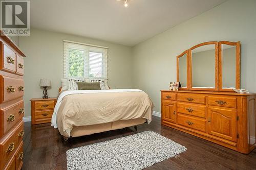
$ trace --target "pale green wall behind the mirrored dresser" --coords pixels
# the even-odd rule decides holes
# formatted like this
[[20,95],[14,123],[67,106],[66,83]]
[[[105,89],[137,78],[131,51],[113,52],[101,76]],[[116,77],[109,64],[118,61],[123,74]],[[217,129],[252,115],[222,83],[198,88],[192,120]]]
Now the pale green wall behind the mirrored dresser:
[[241,41],[241,88],[256,91],[256,1],[230,0],[133,47],[133,83],[160,112],[160,91],[176,81],[176,56],[205,41]]

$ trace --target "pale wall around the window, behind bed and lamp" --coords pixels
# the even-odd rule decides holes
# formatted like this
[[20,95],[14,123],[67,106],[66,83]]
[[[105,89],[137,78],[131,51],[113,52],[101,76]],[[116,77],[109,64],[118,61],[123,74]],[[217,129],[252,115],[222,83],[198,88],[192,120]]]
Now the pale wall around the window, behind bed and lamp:
[[41,98],[41,78],[51,80],[48,89],[50,97],[56,97],[63,76],[63,42],[71,40],[109,47],[109,86],[115,88],[132,87],[132,48],[92,38],[32,29],[30,36],[19,37],[19,47],[25,57],[25,116],[31,115],[30,99]]

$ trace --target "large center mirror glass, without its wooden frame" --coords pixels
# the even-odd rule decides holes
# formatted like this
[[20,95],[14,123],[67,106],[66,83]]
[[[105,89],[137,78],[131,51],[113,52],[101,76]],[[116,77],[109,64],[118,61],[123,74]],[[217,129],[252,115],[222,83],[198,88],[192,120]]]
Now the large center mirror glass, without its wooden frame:
[[[216,44],[191,48],[192,88],[216,88]],[[218,51],[217,51],[218,52]]]

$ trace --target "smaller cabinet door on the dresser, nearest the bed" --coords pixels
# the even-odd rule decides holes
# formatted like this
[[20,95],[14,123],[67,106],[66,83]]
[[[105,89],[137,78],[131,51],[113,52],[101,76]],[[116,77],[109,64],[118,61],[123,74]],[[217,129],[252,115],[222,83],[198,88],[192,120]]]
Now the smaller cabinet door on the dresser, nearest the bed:
[[163,100],[162,102],[163,120],[176,123],[176,103]]

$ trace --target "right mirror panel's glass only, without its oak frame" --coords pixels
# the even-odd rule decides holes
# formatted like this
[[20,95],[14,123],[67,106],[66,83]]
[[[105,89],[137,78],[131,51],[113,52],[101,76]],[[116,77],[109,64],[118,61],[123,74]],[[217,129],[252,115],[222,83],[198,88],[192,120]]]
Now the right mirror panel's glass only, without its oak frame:
[[222,88],[236,88],[236,46],[222,44]]

